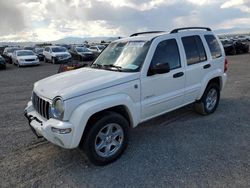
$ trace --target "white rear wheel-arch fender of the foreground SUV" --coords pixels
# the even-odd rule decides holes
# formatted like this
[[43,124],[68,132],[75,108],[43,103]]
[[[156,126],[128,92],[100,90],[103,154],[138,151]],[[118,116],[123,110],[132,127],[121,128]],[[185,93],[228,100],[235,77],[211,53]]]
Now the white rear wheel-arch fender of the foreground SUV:
[[[216,69],[212,72],[209,72],[202,80],[202,84],[201,84],[201,89],[200,89],[200,93],[197,97],[197,100],[200,100],[205,89],[207,88],[207,84],[210,80],[212,80],[213,78],[219,77],[220,78],[220,84],[222,84],[222,78],[221,75],[223,75],[223,72],[221,71],[221,69]],[[222,86],[221,86],[222,87]]]

